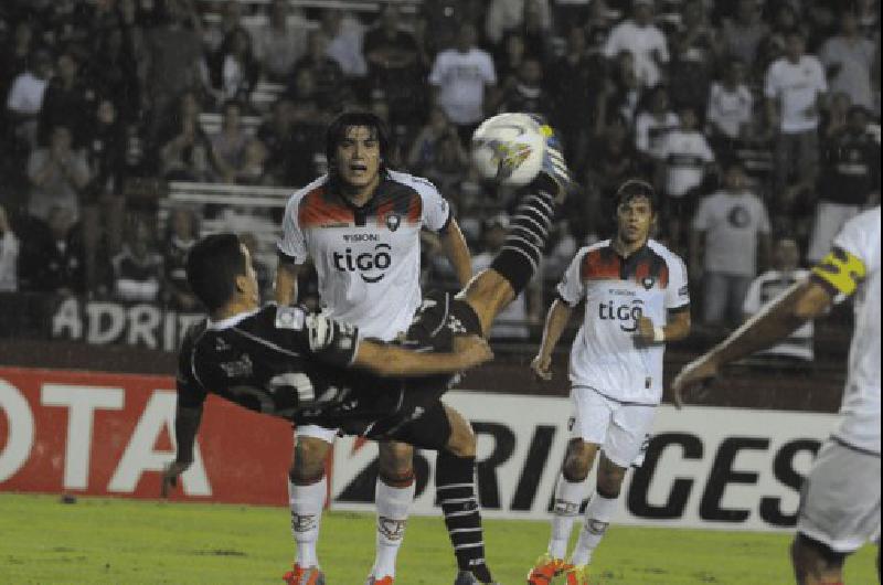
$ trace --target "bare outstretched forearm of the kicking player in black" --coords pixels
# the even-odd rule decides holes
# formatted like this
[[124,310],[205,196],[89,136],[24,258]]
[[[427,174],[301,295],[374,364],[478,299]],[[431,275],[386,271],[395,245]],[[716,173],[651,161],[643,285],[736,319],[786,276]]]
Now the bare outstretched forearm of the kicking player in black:
[[474,368],[493,358],[487,341],[478,336],[455,338],[454,351],[444,353],[417,352],[362,341],[352,365],[383,376],[419,376],[450,374]]

